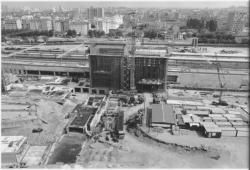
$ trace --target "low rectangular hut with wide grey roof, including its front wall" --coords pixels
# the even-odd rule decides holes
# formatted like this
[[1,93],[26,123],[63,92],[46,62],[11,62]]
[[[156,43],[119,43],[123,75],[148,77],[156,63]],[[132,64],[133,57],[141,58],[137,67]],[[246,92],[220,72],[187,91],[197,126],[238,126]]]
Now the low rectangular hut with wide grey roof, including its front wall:
[[152,104],[147,113],[148,126],[170,127],[177,124],[172,105],[165,103]]

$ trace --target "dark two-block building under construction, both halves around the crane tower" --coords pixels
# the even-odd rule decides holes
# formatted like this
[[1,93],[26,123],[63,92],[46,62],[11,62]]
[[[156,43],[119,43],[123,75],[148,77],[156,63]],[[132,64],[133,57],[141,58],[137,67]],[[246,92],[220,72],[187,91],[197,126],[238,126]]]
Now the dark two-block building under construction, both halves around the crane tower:
[[125,43],[98,42],[90,48],[89,61],[92,91],[165,89],[166,50],[137,49],[131,55]]

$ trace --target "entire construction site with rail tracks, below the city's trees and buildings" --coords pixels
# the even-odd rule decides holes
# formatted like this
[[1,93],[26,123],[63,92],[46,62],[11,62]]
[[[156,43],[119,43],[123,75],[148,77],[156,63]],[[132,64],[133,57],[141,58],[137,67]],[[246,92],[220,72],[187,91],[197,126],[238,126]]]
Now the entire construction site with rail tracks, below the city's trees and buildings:
[[248,167],[247,48],[1,48],[3,168]]

